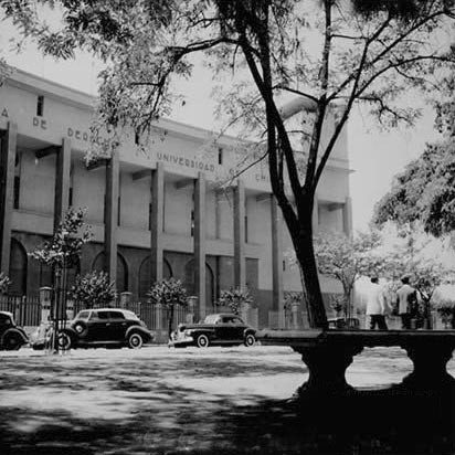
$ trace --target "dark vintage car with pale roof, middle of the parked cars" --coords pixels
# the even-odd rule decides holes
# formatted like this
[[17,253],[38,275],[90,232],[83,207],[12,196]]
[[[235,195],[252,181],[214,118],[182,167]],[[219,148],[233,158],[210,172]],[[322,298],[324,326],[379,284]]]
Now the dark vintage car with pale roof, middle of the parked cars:
[[84,309],[59,332],[59,347],[124,347],[139,349],[154,339],[146,324],[133,311],[119,308]]

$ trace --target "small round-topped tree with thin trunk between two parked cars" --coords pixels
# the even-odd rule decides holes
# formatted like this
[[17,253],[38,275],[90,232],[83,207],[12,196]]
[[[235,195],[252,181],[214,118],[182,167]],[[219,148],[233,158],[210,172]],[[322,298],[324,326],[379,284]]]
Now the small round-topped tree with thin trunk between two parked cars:
[[176,307],[188,306],[187,289],[180,279],[169,278],[155,283],[147,295],[152,304],[161,304],[168,310],[168,336],[171,339]]

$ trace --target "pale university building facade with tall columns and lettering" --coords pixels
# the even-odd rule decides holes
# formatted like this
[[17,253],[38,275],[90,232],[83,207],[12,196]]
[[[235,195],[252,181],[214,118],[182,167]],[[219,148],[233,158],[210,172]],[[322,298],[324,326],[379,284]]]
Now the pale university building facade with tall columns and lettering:
[[[85,208],[94,237],[70,282],[105,269],[118,292],[146,299],[151,283],[173,276],[199,297],[200,316],[213,311],[220,290],[247,287],[266,326],[283,292],[300,290],[267,170],[257,165],[221,188],[239,141],[214,141],[210,131],[168,119],[147,140],[126,131],[112,159],[87,168],[94,103],[21,71],[0,87],[0,269],[10,292],[35,294],[52,283],[49,267],[29,253],[52,236],[68,207]],[[316,231],[351,233],[349,172],[345,131],[319,184]],[[321,284],[326,294],[340,292],[325,277]]]

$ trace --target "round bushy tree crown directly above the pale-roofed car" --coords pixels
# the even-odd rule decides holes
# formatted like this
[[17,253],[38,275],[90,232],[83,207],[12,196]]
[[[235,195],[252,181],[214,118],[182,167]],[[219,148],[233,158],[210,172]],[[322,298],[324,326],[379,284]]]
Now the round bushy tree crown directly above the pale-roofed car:
[[70,296],[83,303],[85,308],[93,308],[109,305],[117,298],[117,292],[115,282],[109,282],[107,273],[93,271],[84,276],[76,276]]

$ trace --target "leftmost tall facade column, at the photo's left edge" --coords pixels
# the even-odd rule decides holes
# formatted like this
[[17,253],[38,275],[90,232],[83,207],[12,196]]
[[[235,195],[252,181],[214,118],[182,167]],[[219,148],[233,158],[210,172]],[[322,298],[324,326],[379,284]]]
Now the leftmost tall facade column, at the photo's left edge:
[[10,269],[17,141],[18,126],[9,121],[0,142],[0,272],[6,275],[9,275]]

